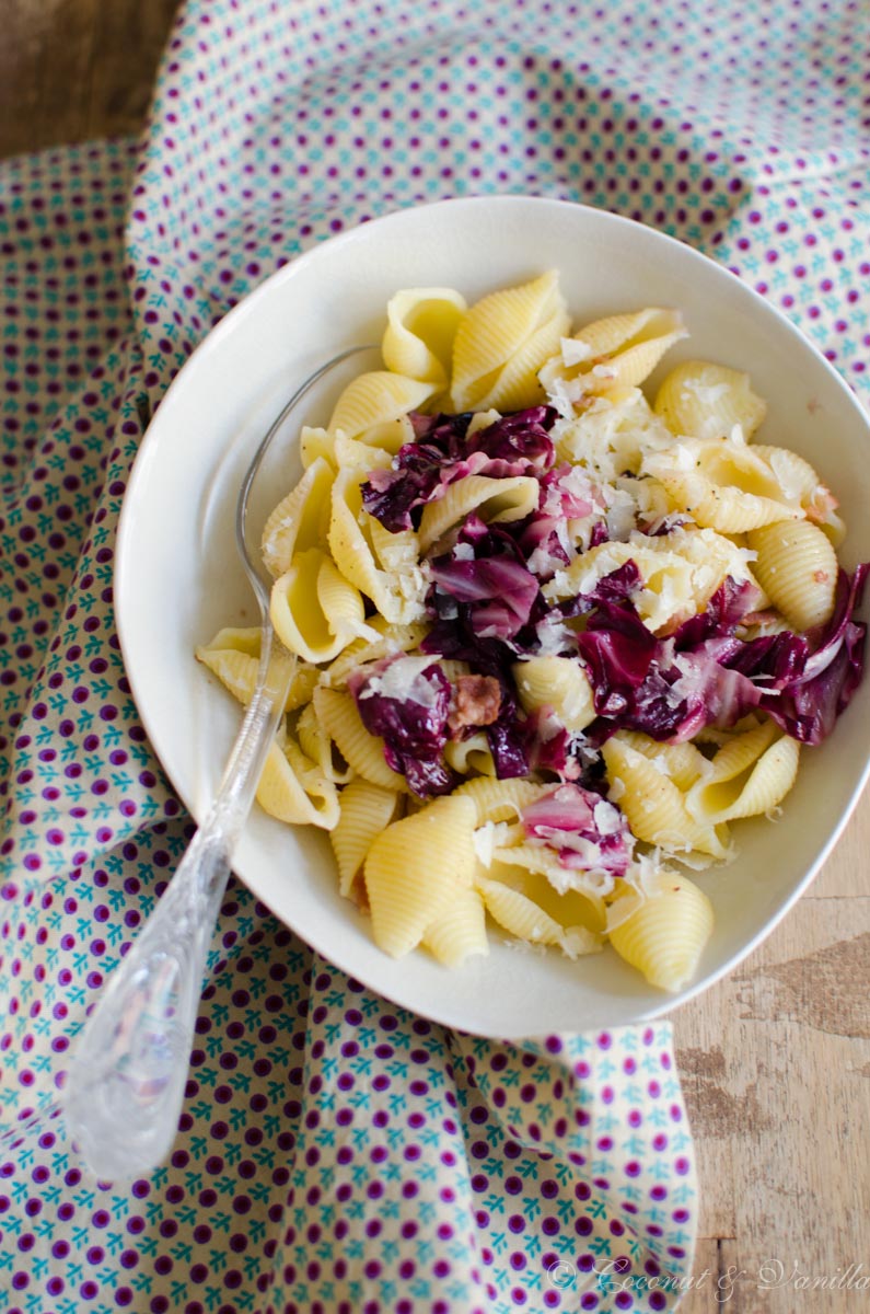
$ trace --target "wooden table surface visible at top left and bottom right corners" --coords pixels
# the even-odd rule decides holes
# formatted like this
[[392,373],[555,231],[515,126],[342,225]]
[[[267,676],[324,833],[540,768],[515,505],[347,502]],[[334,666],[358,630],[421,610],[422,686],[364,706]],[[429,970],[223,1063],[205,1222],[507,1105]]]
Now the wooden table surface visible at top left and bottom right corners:
[[[173,0],[1,3],[0,156],[138,130]],[[869,854],[865,794],[785,922],[673,1014],[700,1179],[681,1314],[870,1310]]]

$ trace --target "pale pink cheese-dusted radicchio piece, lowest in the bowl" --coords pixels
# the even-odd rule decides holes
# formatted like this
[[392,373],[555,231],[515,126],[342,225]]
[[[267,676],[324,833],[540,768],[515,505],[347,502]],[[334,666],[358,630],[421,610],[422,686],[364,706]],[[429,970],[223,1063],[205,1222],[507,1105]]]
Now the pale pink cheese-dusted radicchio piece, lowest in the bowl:
[[631,861],[631,832],[619,808],[580,784],[560,784],[522,811],[530,841],[559,853],[564,867],[624,876]]

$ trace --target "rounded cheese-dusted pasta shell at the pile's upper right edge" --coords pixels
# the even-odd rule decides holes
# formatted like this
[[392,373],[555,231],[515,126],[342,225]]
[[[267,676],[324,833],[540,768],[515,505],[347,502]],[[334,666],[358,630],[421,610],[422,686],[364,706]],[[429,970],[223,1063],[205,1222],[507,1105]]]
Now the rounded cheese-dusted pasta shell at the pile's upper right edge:
[[735,424],[750,438],[767,411],[748,374],[706,360],[672,369],[656,393],[654,409],[672,434],[708,439],[727,438]]

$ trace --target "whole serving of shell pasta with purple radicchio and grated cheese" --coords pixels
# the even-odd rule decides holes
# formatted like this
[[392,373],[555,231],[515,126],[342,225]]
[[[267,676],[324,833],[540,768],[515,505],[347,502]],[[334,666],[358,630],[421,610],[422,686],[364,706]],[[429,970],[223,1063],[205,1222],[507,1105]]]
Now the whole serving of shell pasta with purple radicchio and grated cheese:
[[[390,955],[460,967],[495,929],[682,989],[714,915],[679,865],[775,819],[857,687],[836,498],[754,442],[748,374],[644,393],[685,336],[661,307],[572,332],[553,271],[402,289],[384,368],[301,431],[262,544],[301,661],[258,799],[329,832]],[[247,703],[259,650],[196,656]]]

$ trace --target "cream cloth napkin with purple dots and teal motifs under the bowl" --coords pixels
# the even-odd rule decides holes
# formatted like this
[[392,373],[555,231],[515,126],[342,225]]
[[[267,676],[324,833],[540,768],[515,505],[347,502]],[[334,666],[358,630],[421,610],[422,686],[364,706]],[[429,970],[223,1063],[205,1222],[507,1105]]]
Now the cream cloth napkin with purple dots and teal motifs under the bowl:
[[311,242],[448,194],[662,227],[869,397],[869,42],[859,0],[715,22],[682,0],[191,0],[138,145],[0,167],[4,1309],[678,1302],[697,1198],[669,1025],[449,1031],[238,883],[170,1163],[88,1179],[68,1053],[192,833],[124,675],[116,526],[149,417],[230,306]]

